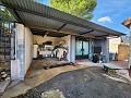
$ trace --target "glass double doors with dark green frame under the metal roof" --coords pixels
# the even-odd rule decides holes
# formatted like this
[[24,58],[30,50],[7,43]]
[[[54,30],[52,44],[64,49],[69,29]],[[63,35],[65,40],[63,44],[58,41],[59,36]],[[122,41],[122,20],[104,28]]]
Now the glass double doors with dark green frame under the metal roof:
[[88,59],[88,40],[76,39],[75,46],[75,59]]

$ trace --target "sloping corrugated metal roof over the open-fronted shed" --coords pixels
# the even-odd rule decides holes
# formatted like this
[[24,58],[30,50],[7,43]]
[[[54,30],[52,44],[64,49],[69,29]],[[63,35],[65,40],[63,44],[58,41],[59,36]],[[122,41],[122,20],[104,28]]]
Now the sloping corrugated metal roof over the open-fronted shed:
[[62,33],[62,36],[69,34],[92,38],[124,35],[33,0],[1,0],[1,5],[7,7],[16,21],[29,27],[33,34],[44,35],[48,32],[48,35]]

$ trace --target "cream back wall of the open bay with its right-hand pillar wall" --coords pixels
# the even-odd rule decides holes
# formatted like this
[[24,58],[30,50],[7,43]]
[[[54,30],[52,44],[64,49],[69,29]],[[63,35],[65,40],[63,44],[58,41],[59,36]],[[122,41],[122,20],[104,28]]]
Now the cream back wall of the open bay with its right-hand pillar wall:
[[58,38],[58,37],[48,37],[48,36],[43,37],[43,36],[33,35],[33,39],[34,39],[34,44],[36,44],[37,41],[38,45],[43,45],[43,42],[49,40],[49,41],[52,41],[53,46],[64,40],[66,41],[64,47],[68,48],[67,59],[69,62],[75,62],[75,36],[68,35],[68,36]]

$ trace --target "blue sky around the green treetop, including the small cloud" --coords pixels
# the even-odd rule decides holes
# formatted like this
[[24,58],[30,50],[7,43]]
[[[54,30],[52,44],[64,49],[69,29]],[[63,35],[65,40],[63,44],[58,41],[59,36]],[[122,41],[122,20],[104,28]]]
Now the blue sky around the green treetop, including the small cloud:
[[[49,5],[49,0],[40,1]],[[97,0],[93,14],[91,22],[129,34],[129,29],[121,23],[131,17],[131,0]]]

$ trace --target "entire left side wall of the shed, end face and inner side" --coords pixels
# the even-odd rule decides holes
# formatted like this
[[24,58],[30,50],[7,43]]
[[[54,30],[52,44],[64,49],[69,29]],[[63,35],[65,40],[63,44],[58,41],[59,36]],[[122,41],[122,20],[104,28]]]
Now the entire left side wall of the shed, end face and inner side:
[[16,24],[16,58],[11,60],[11,78],[24,79],[26,71],[32,62],[33,36],[27,27]]

